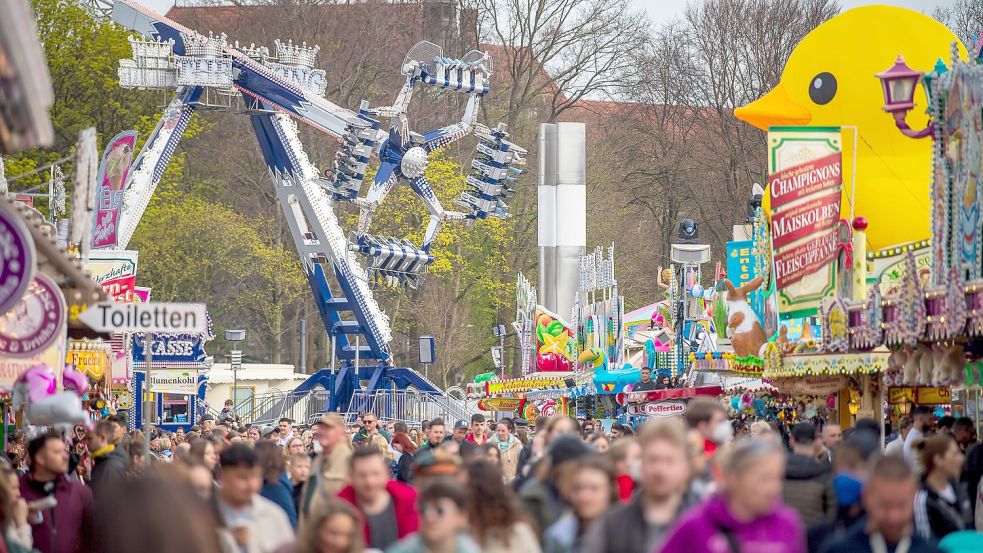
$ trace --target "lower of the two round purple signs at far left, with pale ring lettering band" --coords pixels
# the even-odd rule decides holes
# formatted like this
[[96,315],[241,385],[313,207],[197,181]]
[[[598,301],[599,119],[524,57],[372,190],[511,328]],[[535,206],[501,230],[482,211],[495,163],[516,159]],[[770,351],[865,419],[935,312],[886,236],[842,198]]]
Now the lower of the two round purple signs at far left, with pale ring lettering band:
[[66,337],[65,296],[44,273],[5,315],[0,317],[0,354],[30,357]]

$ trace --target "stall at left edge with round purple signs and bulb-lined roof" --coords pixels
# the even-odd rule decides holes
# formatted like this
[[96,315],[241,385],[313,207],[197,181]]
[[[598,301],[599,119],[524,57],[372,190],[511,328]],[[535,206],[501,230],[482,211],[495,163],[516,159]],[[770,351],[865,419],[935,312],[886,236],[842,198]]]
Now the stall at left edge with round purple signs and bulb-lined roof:
[[[72,429],[111,406],[108,336],[79,321],[105,299],[79,262],[59,246],[37,210],[0,195],[5,237],[0,293],[0,393],[4,433],[18,427]],[[8,407],[10,408],[8,410]]]

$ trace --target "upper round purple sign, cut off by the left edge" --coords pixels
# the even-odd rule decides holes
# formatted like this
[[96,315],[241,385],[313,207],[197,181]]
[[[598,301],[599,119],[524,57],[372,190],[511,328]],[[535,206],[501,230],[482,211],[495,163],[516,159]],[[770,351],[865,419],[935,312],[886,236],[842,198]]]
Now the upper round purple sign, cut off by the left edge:
[[34,239],[24,221],[0,209],[0,315],[14,307],[34,280]]

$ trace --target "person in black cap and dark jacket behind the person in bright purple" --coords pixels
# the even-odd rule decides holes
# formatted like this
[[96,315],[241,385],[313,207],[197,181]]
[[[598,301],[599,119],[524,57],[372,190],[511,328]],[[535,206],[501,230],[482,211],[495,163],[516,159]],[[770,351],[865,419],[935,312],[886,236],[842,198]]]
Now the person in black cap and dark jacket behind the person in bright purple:
[[792,454],[785,461],[785,504],[799,512],[806,526],[822,522],[836,513],[830,466],[816,459],[816,427],[800,422],[789,438]]

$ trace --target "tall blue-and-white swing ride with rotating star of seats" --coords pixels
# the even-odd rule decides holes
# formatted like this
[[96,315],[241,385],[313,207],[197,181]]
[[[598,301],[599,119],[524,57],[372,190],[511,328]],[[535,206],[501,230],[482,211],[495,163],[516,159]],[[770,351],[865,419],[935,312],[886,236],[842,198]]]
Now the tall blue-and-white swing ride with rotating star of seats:
[[[362,380],[368,381],[368,392],[391,386],[440,392],[416,371],[393,365],[389,319],[371,284],[415,287],[433,262],[430,250],[445,221],[507,216],[526,150],[508,141],[504,125],[489,128],[477,122],[479,102],[489,90],[488,55],[471,51],[451,59],[439,46],[421,42],[403,60],[406,82],[393,105],[372,109],[363,101],[353,112],[323,97],[326,75],[314,68],[316,46],[276,41],[272,56],[264,47],[229,44],[225,35],[206,37],[130,0],[97,2],[107,13],[111,8],[114,21],[142,35],[130,39],[133,59],[120,61],[120,86],[176,90],[128,177],[117,247],[125,248],[133,236],[195,112],[222,109],[246,115],[332,338],[332,364],[335,358],[340,362],[337,373],[324,371],[331,375],[334,392],[329,409],[343,405]],[[467,94],[461,120],[422,134],[411,131],[406,112],[417,86]],[[386,118],[388,129],[383,128]],[[308,160],[294,120],[341,141],[333,174],[320,175]],[[463,211],[447,211],[424,177],[428,156],[472,133],[478,138],[477,155],[457,202]],[[360,196],[373,155],[379,169]],[[400,181],[408,183],[430,214],[420,245],[369,233],[373,213]],[[343,202],[360,210],[350,236],[334,211]],[[367,258],[367,268],[359,254]]]

